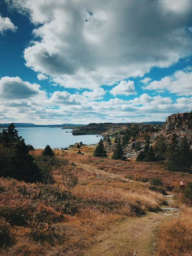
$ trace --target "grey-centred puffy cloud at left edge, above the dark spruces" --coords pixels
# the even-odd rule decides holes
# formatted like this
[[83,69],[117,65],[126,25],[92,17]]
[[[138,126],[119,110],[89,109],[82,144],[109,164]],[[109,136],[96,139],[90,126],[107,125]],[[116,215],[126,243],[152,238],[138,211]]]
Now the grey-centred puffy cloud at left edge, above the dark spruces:
[[27,99],[44,95],[43,91],[39,90],[39,84],[31,84],[24,82],[20,77],[4,76],[0,79],[0,98],[1,99]]

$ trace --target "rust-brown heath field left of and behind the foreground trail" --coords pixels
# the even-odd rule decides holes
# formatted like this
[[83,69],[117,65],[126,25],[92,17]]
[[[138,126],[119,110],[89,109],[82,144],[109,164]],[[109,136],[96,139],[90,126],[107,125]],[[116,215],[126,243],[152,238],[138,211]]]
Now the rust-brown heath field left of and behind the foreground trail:
[[[58,158],[69,160],[65,170],[78,177],[70,192],[64,187],[62,169],[53,171],[52,185],[0,179],[0,221],[2,226],[10,223],[1,256],[82,256],[96,235],[114,223],[154,212],[164,203],[160,190],[152,191],[149,182],[141,182],[144,178],[161,177],[164,189],[177,187],[181,179],[192,181],[191,174],[169,172],[158,163],[94,158],[94,146],[82,147],[84,155],[77,151],[54,150]],[[160,244],[159,253],[164,246]]]

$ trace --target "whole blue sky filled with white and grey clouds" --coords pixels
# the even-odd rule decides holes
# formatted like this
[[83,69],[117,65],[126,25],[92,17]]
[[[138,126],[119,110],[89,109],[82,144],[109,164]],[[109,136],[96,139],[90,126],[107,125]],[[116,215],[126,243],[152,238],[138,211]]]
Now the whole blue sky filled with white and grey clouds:
[[0,0],[0,123],[191,110],[191,0]]

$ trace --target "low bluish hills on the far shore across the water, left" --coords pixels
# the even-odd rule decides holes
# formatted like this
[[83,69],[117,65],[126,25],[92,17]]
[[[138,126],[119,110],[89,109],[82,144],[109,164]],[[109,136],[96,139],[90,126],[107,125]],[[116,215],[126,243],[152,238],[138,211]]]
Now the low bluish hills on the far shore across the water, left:
[[[8,127],[10,123],[0,123],[0,127]],[[23,123],[23,122],[14,122],[14,125],[16,127],[50,127],[50,128],[63,128],[63,127],[70,127],[70,126],[83,126],[82,124],[70,124],[70,123],[64,123],[64,124],[55,124],[55,125],[35,125],[34,123]]]

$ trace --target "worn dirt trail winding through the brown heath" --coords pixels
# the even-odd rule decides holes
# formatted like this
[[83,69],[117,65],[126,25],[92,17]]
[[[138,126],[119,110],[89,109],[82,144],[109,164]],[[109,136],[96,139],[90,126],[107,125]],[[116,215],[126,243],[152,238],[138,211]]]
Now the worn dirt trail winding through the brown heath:
[[[77,163],[83,169],[91,173],[103,176],[119,178],[129,182],[118,174],[108,173],[91,168],[90,165]],[[105,233],[100,233],[96,242],[85,251],[84,256],[152,256],[154,254],[154,230],[162,222],[170,220],[178,214],[178,209],[170,208],[174,205],[174,197],[165,196],[167,206],[162,206],[161,211],[148,212],[142,217],[127,217],[123,221],[115,223],[113,228]]]

